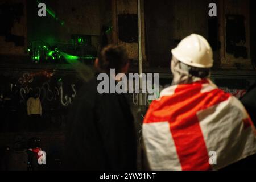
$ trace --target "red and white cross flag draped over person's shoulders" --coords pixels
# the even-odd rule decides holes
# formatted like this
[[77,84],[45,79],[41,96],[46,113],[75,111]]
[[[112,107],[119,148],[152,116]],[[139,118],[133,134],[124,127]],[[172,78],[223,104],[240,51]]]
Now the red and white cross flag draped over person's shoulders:
[[[256,153],[247,111],[210,80],[164,89],[142,131],[152,170],[217,170]],[[212,151],[215,164],[209,162]]]

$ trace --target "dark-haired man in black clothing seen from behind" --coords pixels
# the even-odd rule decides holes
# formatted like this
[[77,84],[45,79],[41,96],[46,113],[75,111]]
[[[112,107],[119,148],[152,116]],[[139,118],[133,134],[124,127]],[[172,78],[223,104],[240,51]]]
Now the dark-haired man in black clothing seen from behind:
[[110,69],[115,69],[117,74],[126,73],[128,66],[122,47],[110,45],[100,52],[95,61],[96,77],[82,86],[69,114],[63,159],[65,169],[136,169],[137,144],[129,104],[123,94],[97,91],[98,74],[110,75]]

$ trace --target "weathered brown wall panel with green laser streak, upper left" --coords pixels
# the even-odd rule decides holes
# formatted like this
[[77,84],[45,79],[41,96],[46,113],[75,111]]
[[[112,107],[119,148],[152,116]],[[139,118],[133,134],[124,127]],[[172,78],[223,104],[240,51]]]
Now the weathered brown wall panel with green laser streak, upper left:
[[[92,44],[98,47],[101,30],[100,0],[45,1],[53,18],[38,17],[37,3],[28,3],[28,41],[43,40],[50,45],[67,44],[71,35],[92,35]],[[63,24],[61,24],[63,22]]]

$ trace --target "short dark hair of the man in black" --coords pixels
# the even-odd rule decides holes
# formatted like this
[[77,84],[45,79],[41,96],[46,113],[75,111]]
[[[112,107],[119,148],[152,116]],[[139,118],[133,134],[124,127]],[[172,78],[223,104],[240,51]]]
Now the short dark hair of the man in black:
[[119,73],[127,63],[127,52],[121,46],[110,44],[105,46],[98,55],[98,66],[102,72],[115,69],[115,73]]

